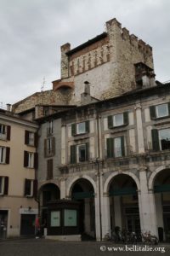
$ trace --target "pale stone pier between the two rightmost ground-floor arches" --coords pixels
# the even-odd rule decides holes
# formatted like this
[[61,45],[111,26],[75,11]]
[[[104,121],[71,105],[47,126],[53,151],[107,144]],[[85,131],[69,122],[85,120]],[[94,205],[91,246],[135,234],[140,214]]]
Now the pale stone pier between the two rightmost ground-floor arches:
[[150,231],[152,235],[157,235],[155,197],[147,187],[146,168],[139,169],[139,179],[141,188],[139,191],[140,228],[142,231]]

